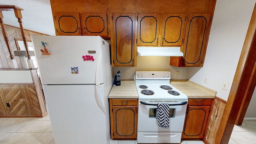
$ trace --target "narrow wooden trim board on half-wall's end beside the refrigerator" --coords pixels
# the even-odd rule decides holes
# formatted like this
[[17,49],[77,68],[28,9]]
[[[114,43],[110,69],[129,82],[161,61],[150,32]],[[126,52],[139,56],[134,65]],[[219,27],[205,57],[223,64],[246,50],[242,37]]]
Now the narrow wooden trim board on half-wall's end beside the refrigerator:
[[[34,83],[34,86],[35,86],[35,92],[36,92],[36,97],[33,97],[33,99],[36,101],[37,99],[37,102],[39,104],[39,110],[40,110],[40,114],[44,114],[46,113],[46,106],[45,106],[45,100],[44,100],[44,94],[42,92],[42,87],[41,87],[41,83],[40,83],[40,80],[38,78],[38,72],[37,70],[31,70],[31,75],[32,75],[32,79],[33,79],[33,83]],[[35,107],[35,110],[38,110],[38,105],[34,106]],[[38,112],[39,112],[38,110]]]

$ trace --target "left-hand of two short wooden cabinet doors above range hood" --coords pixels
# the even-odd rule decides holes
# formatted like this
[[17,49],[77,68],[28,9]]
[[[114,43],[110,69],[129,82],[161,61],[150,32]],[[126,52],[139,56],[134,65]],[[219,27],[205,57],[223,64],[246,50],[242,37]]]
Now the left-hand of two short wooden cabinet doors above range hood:
[[138,14],[138,46],[157,46],[160,14]]

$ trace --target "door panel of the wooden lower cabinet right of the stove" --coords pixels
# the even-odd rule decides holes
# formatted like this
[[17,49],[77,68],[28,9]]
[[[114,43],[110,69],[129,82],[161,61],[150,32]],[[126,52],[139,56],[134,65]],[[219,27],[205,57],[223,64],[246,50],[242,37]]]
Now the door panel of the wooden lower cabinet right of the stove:
[[189,106],[182,138],[203,138],[210,106]]

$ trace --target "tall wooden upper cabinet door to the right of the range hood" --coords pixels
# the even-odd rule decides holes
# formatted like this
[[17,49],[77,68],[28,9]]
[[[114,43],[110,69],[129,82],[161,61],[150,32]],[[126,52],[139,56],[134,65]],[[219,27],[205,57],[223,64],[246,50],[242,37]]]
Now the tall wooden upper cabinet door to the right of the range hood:
[[211,14],[188,14],[184,40],[184,62],[186,66],[203,66]]

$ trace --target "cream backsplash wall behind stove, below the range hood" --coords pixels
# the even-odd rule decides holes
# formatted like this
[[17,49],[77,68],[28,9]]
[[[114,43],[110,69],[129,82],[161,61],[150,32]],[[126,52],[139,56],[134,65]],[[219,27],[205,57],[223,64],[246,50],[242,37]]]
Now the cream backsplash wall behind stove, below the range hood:
[[[166,70],[171,72],[172,80],[187,80],[188,67],[170,66],[170,56],[137,56],[137,67],[114,67],[113,75],[120,70],[122,80],[133,80],[134,73],[138,70]],[[175,77],[175,72],[179,71],[179,77]]]

